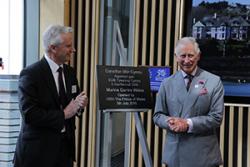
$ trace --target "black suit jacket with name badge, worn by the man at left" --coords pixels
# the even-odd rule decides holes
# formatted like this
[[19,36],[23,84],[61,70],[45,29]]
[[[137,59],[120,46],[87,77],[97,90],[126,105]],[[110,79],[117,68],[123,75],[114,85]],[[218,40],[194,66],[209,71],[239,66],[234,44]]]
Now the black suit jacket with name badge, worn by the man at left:
[[[79,93],[74,70],[64,65],[67,100]],[[22,126],[14,156],[15,167],[52,167],[57,159],[61,130],[66,127],[70,155],[75,153],[75,117],[65,120],[56,84],[45,58],[23,69],[19,78]]]

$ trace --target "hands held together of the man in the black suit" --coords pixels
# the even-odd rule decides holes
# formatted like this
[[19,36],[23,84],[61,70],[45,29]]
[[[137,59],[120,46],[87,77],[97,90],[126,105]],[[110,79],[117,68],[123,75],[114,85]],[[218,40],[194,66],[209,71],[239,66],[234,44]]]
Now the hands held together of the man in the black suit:
[[75,99],[72,99],[71,102],[64,109],[65,119],[69,119],[74,116],[79,109],[83,109],[88,104],[88,97],[85,92],[81,92]]

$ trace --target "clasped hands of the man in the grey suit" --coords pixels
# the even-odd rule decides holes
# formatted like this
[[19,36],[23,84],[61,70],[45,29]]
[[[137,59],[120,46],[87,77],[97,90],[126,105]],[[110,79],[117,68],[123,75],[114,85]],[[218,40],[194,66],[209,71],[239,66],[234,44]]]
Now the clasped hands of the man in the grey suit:
[[167,124],[169,128],[176,133],[188,131],[188,123],[186,119],[169,117],[169,119],[167,120]]

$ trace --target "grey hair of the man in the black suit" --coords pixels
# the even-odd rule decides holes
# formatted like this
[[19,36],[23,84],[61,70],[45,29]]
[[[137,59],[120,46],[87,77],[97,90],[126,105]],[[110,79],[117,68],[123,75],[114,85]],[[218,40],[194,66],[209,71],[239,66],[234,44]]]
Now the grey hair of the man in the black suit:
[[59,45],[63,42],[61,34],[71,32],[73,32],[72,27],[50,25],[43,33],[43,48],[45,52],[48,53],[50,45]]

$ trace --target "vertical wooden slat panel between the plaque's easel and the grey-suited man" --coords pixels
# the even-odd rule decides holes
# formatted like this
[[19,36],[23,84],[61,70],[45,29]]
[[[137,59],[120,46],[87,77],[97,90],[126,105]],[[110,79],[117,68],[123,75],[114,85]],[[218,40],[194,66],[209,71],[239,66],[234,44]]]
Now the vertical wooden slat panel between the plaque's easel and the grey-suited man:
[[[173,61],[173,41],[179,38],[181,1],[173,0],[144,0],[136,1],[135,9],[135,38],[134,66],[172,66],[176,70]],[[174,7],[174,9],[173,9]],[[138,12],[142,11],[142,12]],[[172,20],[174,19],[174,21]],[[138,25],[139,24],[139,25]],[[175,24],[175,25],[173,25]],[[177,27],[177,28],[176,28]],[[136,40],[141,39],[141,40]],[[153,94],[155,99],[155,94]],[[146,131],[149,150],[153,158],[153,166],[161,166],[162,145],[165,139],[165,131],[156,127],[152,121],[153,110],[141,113],[142,122]],[[132,121],[134,129],[135,122]],[[131,139],[131,166],[145,166],[137,138],[133,131]],[[134,151],[139,150],[139,151]],[[138,162],[134,162],[134,161]]]

